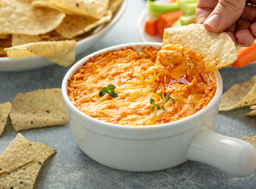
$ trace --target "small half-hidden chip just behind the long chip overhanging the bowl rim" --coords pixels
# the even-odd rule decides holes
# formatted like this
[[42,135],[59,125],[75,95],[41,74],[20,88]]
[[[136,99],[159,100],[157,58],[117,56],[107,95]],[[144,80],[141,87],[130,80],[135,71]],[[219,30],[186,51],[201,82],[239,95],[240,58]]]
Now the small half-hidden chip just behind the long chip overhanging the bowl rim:
[[14,34],[11,38],[11,46],[18,46],[27,43],[41,42],[43,39],[40,36],[28,36],[23,34]]

